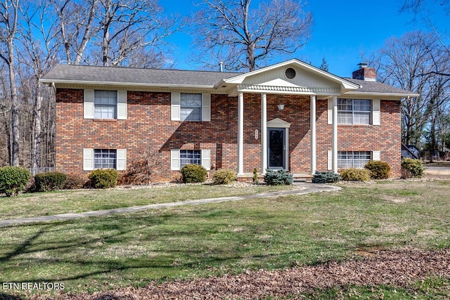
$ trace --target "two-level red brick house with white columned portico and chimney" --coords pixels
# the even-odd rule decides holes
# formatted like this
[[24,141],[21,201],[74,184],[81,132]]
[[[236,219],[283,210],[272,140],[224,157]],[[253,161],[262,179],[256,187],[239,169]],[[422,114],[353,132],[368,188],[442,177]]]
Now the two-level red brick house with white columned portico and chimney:
[[370,159],[399,176],[400,101],[418,96],[366,65],[341,78],[295,59],[246,73],[57,65],[41,82],[56,93],[56,171],[125,171],[152,149],[160,180],[188,163],[310,175]]

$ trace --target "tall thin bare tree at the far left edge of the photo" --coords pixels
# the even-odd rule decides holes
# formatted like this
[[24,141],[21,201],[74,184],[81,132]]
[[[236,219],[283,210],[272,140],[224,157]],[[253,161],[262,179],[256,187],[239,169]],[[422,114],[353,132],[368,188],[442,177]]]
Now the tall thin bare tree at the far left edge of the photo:
[[19,0],[0,2],[0,58],[8,66],[9,98],[11,100],[11,139],[10,164],[19,165],[19,102],[15,82],[15,35],[18,31]]

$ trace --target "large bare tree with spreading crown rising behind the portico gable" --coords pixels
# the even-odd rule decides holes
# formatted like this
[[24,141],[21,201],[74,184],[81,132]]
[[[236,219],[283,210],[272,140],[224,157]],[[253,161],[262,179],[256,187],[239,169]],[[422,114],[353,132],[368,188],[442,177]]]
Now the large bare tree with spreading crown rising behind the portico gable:
[[252,71],[307,43],[312,17],[300,0],[265,1],[258,8],[250,1],[202,0],[205,8],[191,22],[195,46],[202,51],[200,61],[207,67],[223,61],[228,70]]

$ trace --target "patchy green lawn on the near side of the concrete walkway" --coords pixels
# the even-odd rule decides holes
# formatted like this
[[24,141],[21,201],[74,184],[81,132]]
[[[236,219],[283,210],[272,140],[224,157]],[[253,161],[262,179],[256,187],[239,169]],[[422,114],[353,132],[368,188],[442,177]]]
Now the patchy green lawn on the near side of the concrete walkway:
[[[0,282],[65,282],[65,292],[93,292],[339,261],[373,247],[450,247],[449,181],[342,186],[334,193],[1,228]],[[125,190],[122,197],[127,192],[134,193]],[[337,287],[306,296],[382,299],[370,296],[384,293],[385,299],[410,299],[416,293],[418,299],[444,299],[442,290],[449,291],[448,280],[430,279],[411,290]],[[351,296],[352,291],[363,296]]]

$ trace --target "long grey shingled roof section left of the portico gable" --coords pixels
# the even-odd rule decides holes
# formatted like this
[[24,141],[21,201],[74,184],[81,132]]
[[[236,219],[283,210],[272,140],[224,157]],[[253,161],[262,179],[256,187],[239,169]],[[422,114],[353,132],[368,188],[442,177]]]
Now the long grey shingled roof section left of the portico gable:
[[88,65],[56,65],[41,78],[42,82],[77,81],[143,85],[185,85],[212,87],[235,72],[162,70],[136,67],[96,67]]

